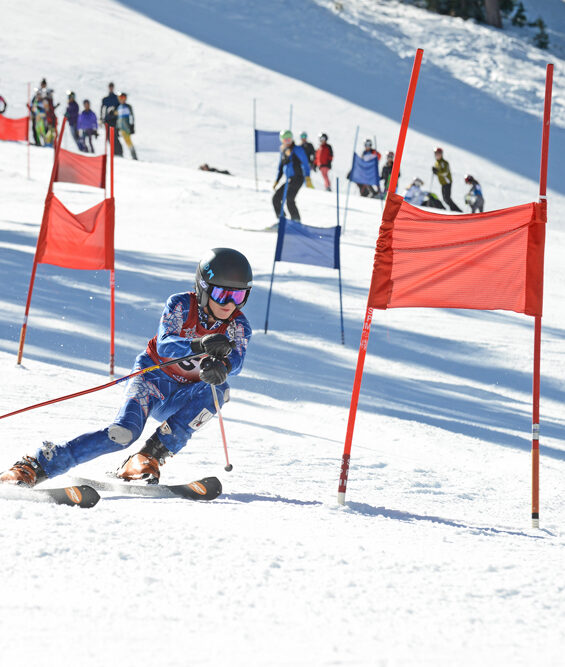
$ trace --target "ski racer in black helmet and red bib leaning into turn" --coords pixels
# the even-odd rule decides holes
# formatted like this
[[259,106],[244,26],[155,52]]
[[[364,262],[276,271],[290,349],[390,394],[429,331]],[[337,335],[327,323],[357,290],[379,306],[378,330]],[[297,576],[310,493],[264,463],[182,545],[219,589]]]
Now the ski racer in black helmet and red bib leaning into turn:
[[196,269],[195,291],[169,297],[158,333],[137,357],[134,370],[191,353],[198,356],[131,378],[112,424],[68,442],[44,442],[2,473],[0,481],[35,486],[102,454],[126,449],[153,416],[160,426],[123,462],[116,476],[157,484],[165,459],[177,454],[214,416],[209,385],[216,387],[220,404],[228,400],[228,376],[241,371],[251,337],[240,309],[252,284],[251,267],[243,254],[231,248],[211,250]]

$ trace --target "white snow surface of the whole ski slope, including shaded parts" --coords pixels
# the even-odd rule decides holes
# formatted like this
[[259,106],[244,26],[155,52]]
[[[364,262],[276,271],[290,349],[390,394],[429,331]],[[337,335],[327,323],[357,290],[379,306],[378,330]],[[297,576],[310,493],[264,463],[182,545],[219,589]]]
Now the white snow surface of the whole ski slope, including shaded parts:
[[[2,4],[9,115],[24,113],[26,82],[42,76],[59,100],[72,88],[97,101],[114,80],[136,111],[142,161],[116,163],[118,373],[208,247],[241,249],[256,276],[246,306],[255,335],[224,409],[234,470],[223,470],[214,421],[163,472],[217,475],[225,494],[210,504],[109,494],[88,511],[0,499],[2,664],[563,664],[563,2],[525,3],[550,26],[549,53],[516,30],[409,4],[343,4]],[[539,530],[529,520],[533,323],[507,312],[375,314],[348,502],[336,503],[380,202],[351,191],[346,345],[336,273],[316,267],[277,265],[262,332],[275,235],[258,230],[274,221],[276,156],[259,156],[256,191],[253,98],[262,129],[285,126],[292,104],[295,130],[327,131],[344,180],[357,126],[360,140],[394,150],[418,46],[400,187],[427,181],[441,144],[455,200],[471,172],[488,209],[537,199],[543,77],[555,63]],[[16,367],[52,152],[31,148],[30,180],[24,146],[4,143],[0,155],[3,414],[107,382],[109,295],[105,272],[40,266]],[[198,171],[203,162],[235,176]],[[303,219],[332,225],[335,198],[314,181],[298,197]],[[75,211],[98,200],[87,190],[56,186]],[[3,420],[0,468],[43,439],[108,423],[120,396],[113,387]],[[124,456],[78,472],[102,475]]]

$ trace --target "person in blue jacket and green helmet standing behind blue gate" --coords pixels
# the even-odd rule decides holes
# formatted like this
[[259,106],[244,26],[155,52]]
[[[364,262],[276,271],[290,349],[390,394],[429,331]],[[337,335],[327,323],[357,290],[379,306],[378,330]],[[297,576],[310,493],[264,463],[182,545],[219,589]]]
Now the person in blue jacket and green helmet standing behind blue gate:
[[[306,181],[306,187],[314,187],[310,179],[310,162],[302,146],[297,146],[294,143],[294,137],[290,130],[281,130],[279,136],[281,140],[281,159],[279,161],[277,180],[273,184],[273,190],[275,190],[273,206],[278,220],[282,212],[284,191],[287,188],[286,206],[290,218],[300,222],[300,213],[296,208],[294,200],[304,181]],[[286,176],[286,182],[277,190],[277,185],[283,173]]]

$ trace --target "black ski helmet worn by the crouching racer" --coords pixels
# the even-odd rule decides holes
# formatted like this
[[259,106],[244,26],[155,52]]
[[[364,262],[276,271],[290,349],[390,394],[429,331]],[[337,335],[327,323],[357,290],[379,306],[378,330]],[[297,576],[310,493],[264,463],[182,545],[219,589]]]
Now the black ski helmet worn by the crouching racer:
[[196,298],[200,307],[208,304],[213,287],[247,290],[243,308],[253,287],[253,271],[247,257],[233,248],[212,248],[196,267]]

